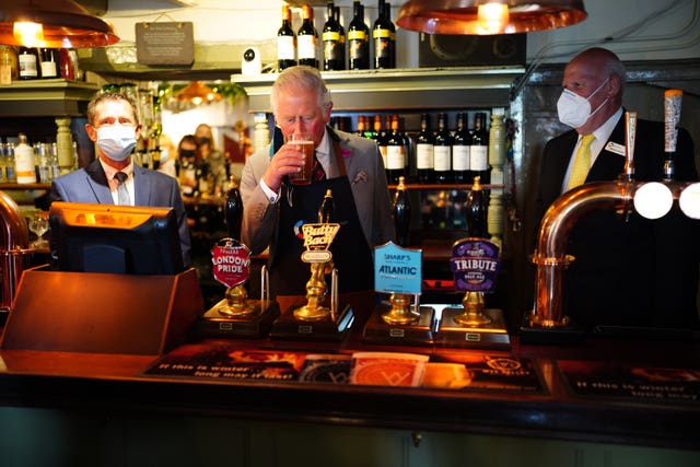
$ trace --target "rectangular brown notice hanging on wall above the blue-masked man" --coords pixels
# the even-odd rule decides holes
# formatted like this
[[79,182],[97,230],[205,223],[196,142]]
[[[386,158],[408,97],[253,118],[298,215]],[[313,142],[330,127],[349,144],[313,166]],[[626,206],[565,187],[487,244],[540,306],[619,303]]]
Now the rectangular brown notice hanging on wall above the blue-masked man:
[[141,65],[192,65],[191,22],[136,23],[136,51]]

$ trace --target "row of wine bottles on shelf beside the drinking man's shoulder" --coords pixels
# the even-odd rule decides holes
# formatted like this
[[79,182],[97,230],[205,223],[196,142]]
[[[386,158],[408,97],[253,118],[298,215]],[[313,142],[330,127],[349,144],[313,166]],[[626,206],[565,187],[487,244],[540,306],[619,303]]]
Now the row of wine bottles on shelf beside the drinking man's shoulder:
[[421,114],[420,132],[411,138],[404,131],[398,115],[358,117],[358,135],[376,140],[384,160],[389,184],[399,177],[419,184],[470,184],[479,176],[482,184],[490,183],[489,133],[487,114],[474,114],[472,126],[468,114],[458,112],[451,129],[448,115],[438,114],[438,126],[431,125],[431,115]]

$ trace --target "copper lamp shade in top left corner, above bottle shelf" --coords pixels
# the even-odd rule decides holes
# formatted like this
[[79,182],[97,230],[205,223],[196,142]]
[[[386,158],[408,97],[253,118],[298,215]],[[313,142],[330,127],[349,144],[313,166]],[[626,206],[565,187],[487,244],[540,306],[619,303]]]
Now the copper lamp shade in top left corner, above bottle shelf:
[[[27,38],[18,32],[15,23],[38,31]],[[109,23],[72,0],[3,0],[0,7],[0,44],[85,48],[104,47],[118,40]]]

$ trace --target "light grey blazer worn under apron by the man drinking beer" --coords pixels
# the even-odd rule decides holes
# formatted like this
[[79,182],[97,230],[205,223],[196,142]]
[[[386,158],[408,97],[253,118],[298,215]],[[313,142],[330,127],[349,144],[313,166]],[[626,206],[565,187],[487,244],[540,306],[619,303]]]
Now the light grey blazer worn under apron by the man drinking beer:
[[[345,131],[327,129],[331,142],[338,141],[362,231],[372,249],[394,238],[389,191],[384,163],[374,141]],[[334,144],[330,144],[331,153]],[[329,177],[340,174],[335,153],[330,156]],[[270,203],[259,180],[270,163],[269,149],[259,150],[246,161],[241,177],[243,226],[241,236],[254,255],[261,253],[275,237],[279,200]]]

